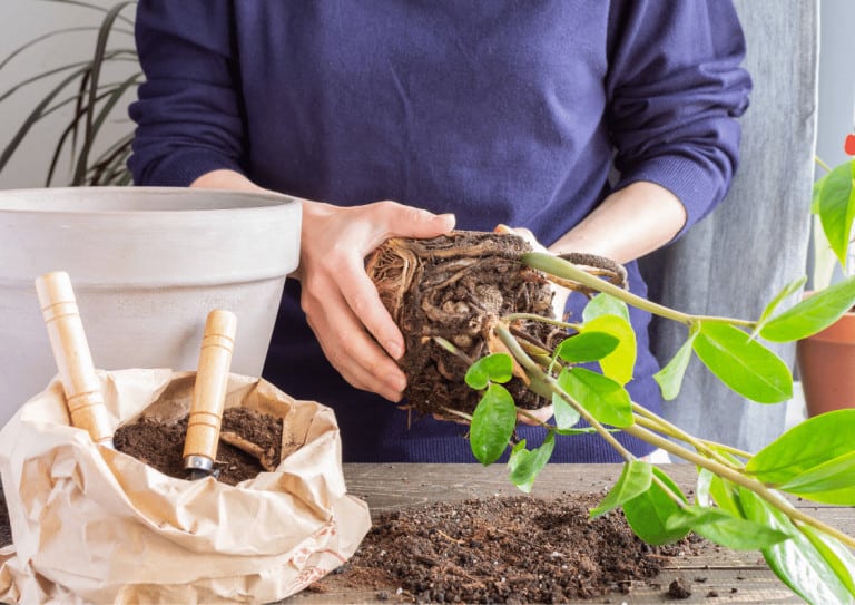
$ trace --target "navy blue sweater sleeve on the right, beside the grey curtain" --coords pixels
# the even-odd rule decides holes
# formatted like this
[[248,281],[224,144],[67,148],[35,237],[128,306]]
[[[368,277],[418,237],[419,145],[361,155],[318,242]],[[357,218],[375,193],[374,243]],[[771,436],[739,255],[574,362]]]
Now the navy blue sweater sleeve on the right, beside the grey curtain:
[[657,183],[682,202],[687,222],[727,193],[738,163],[750,78],[730,0],[626,0],[610,14],[607,124],[616,188]]

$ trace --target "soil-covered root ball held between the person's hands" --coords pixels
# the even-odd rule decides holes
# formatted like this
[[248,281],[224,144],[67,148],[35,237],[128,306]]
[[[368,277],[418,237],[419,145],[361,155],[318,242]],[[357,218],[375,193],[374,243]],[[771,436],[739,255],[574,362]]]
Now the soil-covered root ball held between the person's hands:
[[[404,397],[410,407],[452,419],[459,418],[448,410],[471,414],[480,393],[463,378],[472,361],[501,350],[492,333],[499,318],[553,318],[550,282],[520,261],[531,251],[517,235],[455,231],[430,240],[391,238],[367,257],[366,272],[406,341],[399,365],[407,377]],[[626,279],[623,267],[608,258],[571,256],[610,281],[622,284]],[[513,322],[511,332],[547,350],[568,338],[561,328],[522,319]],[[517,377],[504,387],[520,408],[549,403]]]

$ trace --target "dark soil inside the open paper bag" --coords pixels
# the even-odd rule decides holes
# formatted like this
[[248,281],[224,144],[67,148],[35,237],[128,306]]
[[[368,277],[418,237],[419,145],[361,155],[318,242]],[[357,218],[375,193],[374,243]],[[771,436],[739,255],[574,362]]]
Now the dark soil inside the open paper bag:
[[[252,479],[265,468],[258,453],[279,460],[282,451],[282,419],[246,408],[227,408],[223,413],[222,432],[237,435],[248,446],[255,446],[253,453],[220,439],[217,460],[214,465],[218,481],[236,485]],[[164,475],[187,479],[184,468],[184,440],[187,433],[187,417],[177,422],[164,423],[151,418],[141,418],[132,425],[119,427],[112,441],[118,451],[125,452],[156,468]]]

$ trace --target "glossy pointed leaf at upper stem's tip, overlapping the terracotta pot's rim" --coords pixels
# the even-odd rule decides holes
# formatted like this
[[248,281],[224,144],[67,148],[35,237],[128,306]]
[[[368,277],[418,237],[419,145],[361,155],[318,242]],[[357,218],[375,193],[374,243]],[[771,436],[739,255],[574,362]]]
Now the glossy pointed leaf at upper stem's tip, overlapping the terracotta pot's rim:
[[825,330],[855,304],[855,275],[816,292],[770,320],[760,335],[773,342],[789,342]]

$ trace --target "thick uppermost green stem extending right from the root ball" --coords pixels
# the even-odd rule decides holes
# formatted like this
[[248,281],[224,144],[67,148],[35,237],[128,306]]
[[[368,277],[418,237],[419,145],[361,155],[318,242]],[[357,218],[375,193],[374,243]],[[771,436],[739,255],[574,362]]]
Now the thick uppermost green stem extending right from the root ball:
[[615,296],[616,299],[619,299],[627,304],[631,304],[632,306],[636,306],[638,309],[641,309],[655,315],[659,315],[660,318],[666,318],[679,323],[685,323],[687,325],[691,325],[692,323],[696,323],[699,321],[705,321],[705,322],[729,323],[731,325],[741,325],[745,328],[754,328],[756,323],[753,321],[739,320],[735,318],[691,315],[689,313],[682,313],[680,311],[669,309],[665,305],[655,303],[652,301],[648,301],[647,299],[643,299],[627,290],[623,290],[620,286],[617,286],[612,283],[601,280],[596,275],[591,275],[590,273],[579,269],[578,266],[576,266],[573,263],[569,261],[559,258],[558,256],[553,256],[551,254],[547,254],[543,252],[527,252],[525,254],[522,254],[520,256],[520,260],[522,261],[523,264],[532,269],[537,269],[544,273],[548,273],[549,275],[553,275],[556,277],[560,277],[564,280],[570,280],[572,282],[588,286],[592,290],[597,290],[598,292],[603,292],[606,294]]

